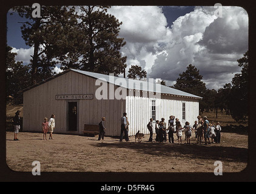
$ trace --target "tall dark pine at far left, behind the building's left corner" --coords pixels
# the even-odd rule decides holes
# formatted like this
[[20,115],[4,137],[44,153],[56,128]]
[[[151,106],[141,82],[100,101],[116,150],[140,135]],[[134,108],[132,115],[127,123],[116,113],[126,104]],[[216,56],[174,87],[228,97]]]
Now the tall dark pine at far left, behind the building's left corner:
[[22,22],[21,33],[25,44],[34,48],[29,65],[32,84],[36,84],[52,75],[55,58],[62,51],[63,40],[66,40],[67,28],[64,27],[76,21],[73,17],[74,9],[66,6],[41,6],[41,18],[33,18],[33,8],[29,6],[17,6],[13,10],[27,19]]

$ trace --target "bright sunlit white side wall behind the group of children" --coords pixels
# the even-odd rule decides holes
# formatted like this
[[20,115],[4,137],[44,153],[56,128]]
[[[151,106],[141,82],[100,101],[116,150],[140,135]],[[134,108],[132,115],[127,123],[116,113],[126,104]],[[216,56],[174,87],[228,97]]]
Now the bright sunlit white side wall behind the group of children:
[[[157,120],[161,121],[161,118],[164,118],[165,122],[168,123],[169,116],[174,115],[175,118],[180,119],[181,125],[184,125],[186,121],[189,121],[190,125],[194,124],[198,116],[198,101],[192,101],[178,96],[165,96],[165,98],[169,99],[144,98],[138,96],[126,97],[126,112],[130,122],[129,135],[135,135],[138,130],[140,130],[141,133],[149,134],[147,123],[151,118],[152,100],[156,101]],[[183,102],[186,104],[185,120],[182,120]],[[155,124],[153,124],[153,127],[155,127]],[[153,132],[155,132],[155,129]]]

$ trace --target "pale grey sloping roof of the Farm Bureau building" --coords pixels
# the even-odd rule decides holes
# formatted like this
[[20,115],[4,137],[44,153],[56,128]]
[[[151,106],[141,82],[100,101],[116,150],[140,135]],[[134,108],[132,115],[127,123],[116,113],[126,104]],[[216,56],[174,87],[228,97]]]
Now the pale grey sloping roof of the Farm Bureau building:
[[[76,69],[70,69],[70,70],[73,72],[81,73],[86,76],[90,76],[92,78],[100,79],[101,81],[107,81],[110,84],[120,85],[121,87],[124,87],[126,89],[136,89],[136,90],[139,89],[139,90],[143,90],[143,91],[146,90],[147,92],[157,92],[157,93],[164,93],[164,94],[177,95],[177,96],[187,96],[187,97],[191,97],[191,98],[202,98],[200,96],[192,95],[190,93],[183,92],[183,91],[177,90],[177,89],[173,89],[172,87],[167,87],[167,86],[161,85],[161,84],[154,84],[153,87],[149,87],[149,86],[152,86],[152,84],[153,84],[150,81],[140,81],[140,80],[136,80],[136,79],[122,78],[123,83],[124,83],[124,85],[122,85],[122,79],[120,79],[121,77],[116,77],[116,76],[112,76],[112,75],[104,75],[101,73],[86,72],[86,71],[76,70]],[[150,85],[150,83],[151,83],[151,85]],[[147,84],[148,87],[144,87],[143,84],[144,85]]]

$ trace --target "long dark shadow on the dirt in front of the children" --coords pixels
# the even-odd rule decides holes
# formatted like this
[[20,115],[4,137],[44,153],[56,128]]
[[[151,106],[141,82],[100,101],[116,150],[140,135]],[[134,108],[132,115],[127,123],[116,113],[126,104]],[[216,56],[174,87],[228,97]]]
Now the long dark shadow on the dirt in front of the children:
[[[95,147],[107,147],[109,149],[136,150],[152,156],[184,157],[187,159],[209,159],[228,162],[247,162],[248,149],[240,147],[224,147],[219,144],[169,144],[158,142],[119,142],[119,143],[98,143]],[[127,151],[129,153],[129,151]]]

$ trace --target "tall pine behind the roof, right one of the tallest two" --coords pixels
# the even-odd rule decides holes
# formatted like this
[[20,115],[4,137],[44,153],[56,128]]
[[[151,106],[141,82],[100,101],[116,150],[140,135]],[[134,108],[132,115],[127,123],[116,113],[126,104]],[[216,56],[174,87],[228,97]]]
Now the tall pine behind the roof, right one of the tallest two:
[[85,45],[79,69],[103,74],[118,75],[126,67],[126,56],[120,49],[126,42],[118,38],[120,25],[115,16],[107,13],[109,6],[80,6],[78,26],[84,36],[80,43]]

